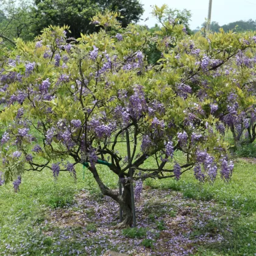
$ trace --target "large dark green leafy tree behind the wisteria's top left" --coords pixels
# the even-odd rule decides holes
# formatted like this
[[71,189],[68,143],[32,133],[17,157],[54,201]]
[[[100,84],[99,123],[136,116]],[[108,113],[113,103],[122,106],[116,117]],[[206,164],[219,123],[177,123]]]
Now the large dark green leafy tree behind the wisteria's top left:
[[[123,27],[132,21],[137,22],[143,14],[142,5],[138,0],[35,0],[33,13],[40,26],[37,26],[37,34],[49,25],[69,25],[71,36],[80,37],[80,33],[88,34],[95,31],[95,26],[90,24],[90,18],[105,9],[121,13],[118,18]],[[96,29],[97,30],[97,29]]]

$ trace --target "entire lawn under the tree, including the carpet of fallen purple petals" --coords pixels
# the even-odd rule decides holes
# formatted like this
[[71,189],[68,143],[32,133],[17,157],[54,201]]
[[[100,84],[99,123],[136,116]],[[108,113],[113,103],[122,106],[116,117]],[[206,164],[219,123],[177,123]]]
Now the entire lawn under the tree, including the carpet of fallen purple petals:
[[[110,171],[99,172],[116,188]],[[256,162],[238,158],[230,183],[200,184],[192,172],[144,182],[138,228],[123,231],[113,229],[118,205],[87,170],[84,179],[77,169],[76,183],[27,172],[20,193],[0,187],[0,255],[256,255]]]

